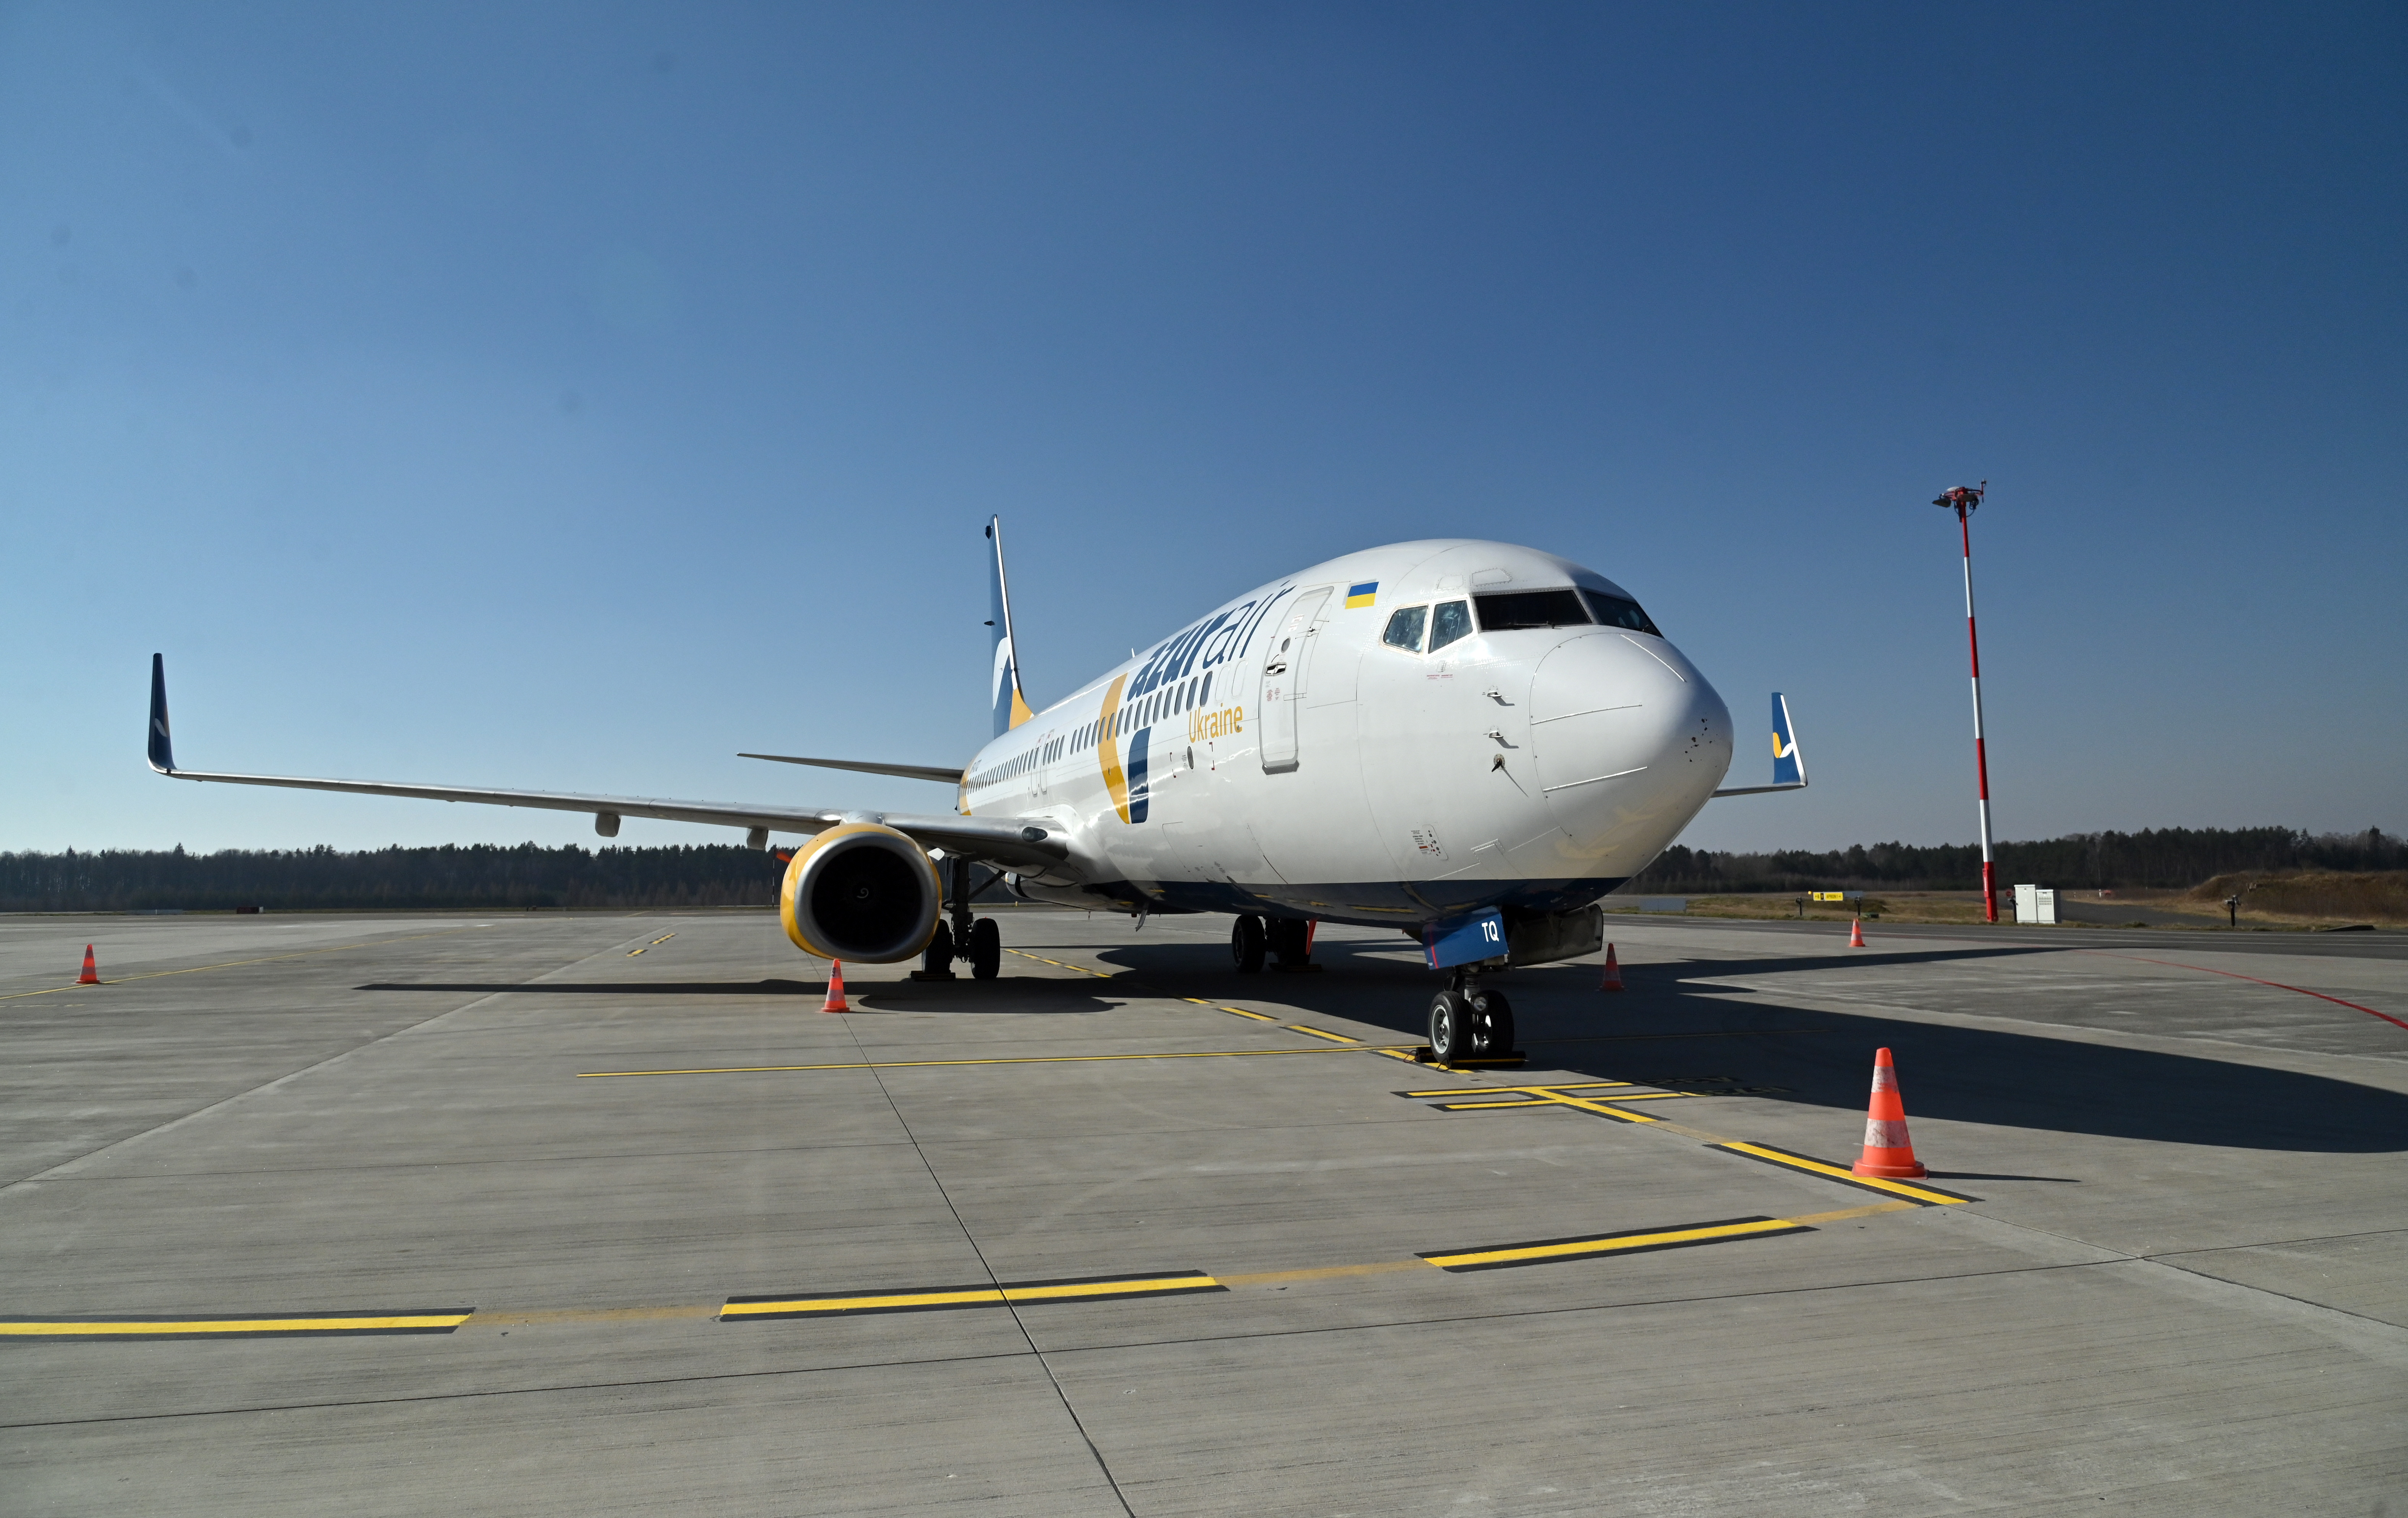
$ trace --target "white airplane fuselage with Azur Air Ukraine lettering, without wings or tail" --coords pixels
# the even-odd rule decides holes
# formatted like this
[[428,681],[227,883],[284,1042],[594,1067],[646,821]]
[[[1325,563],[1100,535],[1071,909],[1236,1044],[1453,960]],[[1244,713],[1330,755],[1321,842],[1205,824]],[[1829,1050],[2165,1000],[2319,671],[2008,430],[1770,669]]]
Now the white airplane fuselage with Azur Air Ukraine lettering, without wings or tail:
[[[1731,764],[1731,718],[1652,631],[1447,610],[1568,588],[1594,593],[1592,617],[1594,598],[1628,602],[1503,542],[1315,564],[990,742],[961,810],[1057,824],[1069,860],[1021,877],[1057,901],[1399,928],[1582,906],[1698,814]],[[1428,612],[1399,646],[1413,607]]]

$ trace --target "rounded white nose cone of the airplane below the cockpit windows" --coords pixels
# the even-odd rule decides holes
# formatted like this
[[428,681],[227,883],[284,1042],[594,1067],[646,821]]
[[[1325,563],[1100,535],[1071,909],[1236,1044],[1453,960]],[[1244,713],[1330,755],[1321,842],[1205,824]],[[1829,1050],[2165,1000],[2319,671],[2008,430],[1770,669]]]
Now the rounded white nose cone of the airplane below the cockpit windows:
[[1529,720],[1548,812],[1584,853],[1652,855],[1731,766],[1731,713],[1662,639],[1565,639],[1531,677]]

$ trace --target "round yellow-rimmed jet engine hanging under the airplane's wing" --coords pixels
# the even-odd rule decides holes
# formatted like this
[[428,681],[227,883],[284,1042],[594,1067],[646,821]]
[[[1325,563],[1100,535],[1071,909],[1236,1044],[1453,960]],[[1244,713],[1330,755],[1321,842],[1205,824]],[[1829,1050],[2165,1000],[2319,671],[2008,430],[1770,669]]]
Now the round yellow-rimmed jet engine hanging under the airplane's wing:
[[778,920],[804,954],[893,964],[937,935],[937,865],[891,826],[848,822],[795,851],[778,889]]

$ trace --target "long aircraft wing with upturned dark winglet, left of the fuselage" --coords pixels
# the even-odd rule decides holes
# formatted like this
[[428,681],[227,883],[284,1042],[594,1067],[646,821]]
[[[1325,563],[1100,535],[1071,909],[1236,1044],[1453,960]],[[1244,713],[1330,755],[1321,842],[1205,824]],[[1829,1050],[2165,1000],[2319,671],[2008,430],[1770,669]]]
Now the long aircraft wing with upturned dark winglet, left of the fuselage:
[[[479,802],[491,807],[539,807],[547,812],[590,812],[616,834],[619,817],[657,817],[662,822],[701,822],[742,826],[749,834],[819,834],[840,822],[879,822],[929,848],[944,848],[1007,867],[1047,867],[1069,855],[1069,843],[1050,819],[961,817],[951,812],[848,812],[831,807],[778,807],[759,802],[689,802],[657,795],[585,795],[576,790],[496,790],[484,786],[414,786],[402,781],[323,781],[311,776],[243,776],[224,771],[178,769],[166,723],[166,660],[152,655],[149,766],[171,781],[217,781],[229,786],[287,786],[294,790],[349,790],[354,795],[405,795],[412,800]],[[609,834],[604,834],[609,836]]]

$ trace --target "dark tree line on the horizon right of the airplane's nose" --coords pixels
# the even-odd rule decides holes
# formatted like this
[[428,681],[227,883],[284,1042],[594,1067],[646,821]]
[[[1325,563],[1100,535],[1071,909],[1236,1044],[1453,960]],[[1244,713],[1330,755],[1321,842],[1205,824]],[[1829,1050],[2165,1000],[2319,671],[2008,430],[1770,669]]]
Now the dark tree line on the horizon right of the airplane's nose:
[[[2396,834],[2302,834],[2288,826],[2165,826],[2138,834],[2066,834],[1999,843],[1999,884],[2186,889],[2218,875],[2285,870],[2403,870],[2408,846]],[[1724,853],[1666,848],[1625,892],[1979,892],[1979,843],[1857,843],[1811,853]]]

